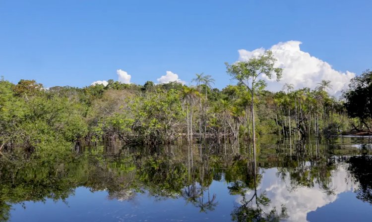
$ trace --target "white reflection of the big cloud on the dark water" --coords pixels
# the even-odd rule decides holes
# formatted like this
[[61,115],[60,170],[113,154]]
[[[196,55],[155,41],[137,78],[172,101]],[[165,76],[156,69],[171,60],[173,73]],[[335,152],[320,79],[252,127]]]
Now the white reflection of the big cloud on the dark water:
[[270,218],[276,216],[290,221],[307,221],[310,211],[334,202],[338,194],[354,191],[359,186],[347,171],[347,164],[336,165],[336,168],[329,172],[326,188],[316,181],[311,185],[299,186],[298,181],[293,181],[296,178],[291,177],[288,172],[283,174],[278,168],[261,170],[261,183],[256,189],[258,193],[248,190],[237,202],[246,203],[247,199],[256,196],[256,199],[259,197],[258,201],[253,202],[251,207],[260,209],[261,214],[265,213]]

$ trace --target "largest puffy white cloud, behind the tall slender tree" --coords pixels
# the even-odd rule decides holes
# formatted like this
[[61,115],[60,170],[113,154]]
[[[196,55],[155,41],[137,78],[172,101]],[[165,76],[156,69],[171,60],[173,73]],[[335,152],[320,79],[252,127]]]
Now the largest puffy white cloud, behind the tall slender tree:
[[[293,84],[296,89],[309,87],[315,88],[321,80],[330,80],[332,89],[328,92],[332,95],[340,94],[345,89],[350,79],[355,77],[353,72],[340,72],[321,59],[311,56],[300,49],[299,41],[280,42],[270,48],[277,58],[276,66],[283,68],[283,76],[279,82],[276,79],[269,80],[266,76],[270,91],[280,91],[285,83]],[[239,50],[239,60],[244,61],[250,57],[262,55],[265,49],[259,48],[253,51]]]

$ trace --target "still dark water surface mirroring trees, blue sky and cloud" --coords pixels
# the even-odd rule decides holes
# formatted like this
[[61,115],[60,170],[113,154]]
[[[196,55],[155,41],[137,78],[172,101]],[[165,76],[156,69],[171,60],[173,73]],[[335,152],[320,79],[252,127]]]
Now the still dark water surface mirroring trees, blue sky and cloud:
[[[0,159],[0,221],[371,221],[370,138],[79,148]],[[225,154],[226,153],[226,154]]]

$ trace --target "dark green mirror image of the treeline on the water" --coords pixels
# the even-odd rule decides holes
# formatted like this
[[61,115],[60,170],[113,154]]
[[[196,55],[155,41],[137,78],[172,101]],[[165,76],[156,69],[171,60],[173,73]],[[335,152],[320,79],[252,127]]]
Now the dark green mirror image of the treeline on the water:
[[[199,149],[193,145],[165,149],[80,147],[78,154],[69,150],[4,153],[0,158],[0,221],[9,219],[14,204],[65,200],[79,186],[91,191],[106,190],[109,199],[119,201],[132,200],[144,192],[157,200],[182,198],[206,213],[218,209],[222,201],[218,193],[212,191],[213,181],[226,182],[229,194],[241,197],[239,206],[231,212],[232,220],[285,219],[289,217],[286,206],[271,203],[275,201],[269,196],[272,194],[257,190],[262,186],[265,167],[277,167],[276,176],[289,192],[306,187],[321,189],[329,196],[337,194],[332,172],[337,162],[349,159],[350,149],[333,145],[337,143],[334,139],[326,144],[296,140],[270,140],[269,143],[269,146],[257,145],[257,160],[252,159],[249,144],[240,144],[241,152],[233,155],[224,154],[225,144],[221,149],[204,144],[199,145]],[[337,161],[336,154],[339,155]],[[349,156],[342,156],[344,154]],[[372,158],[353,156],[349,164],[351,176],[360,184],[357,197],[372,203],[372,173],[369,171]]]

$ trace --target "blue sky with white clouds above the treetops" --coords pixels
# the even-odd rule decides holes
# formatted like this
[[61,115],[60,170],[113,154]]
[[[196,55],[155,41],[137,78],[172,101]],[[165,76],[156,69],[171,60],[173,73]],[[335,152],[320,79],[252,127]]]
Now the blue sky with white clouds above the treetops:
[[212,75],[224,62],[272,50],[295,88],[331,92],[372,68],[370,0],[0,0],[0,75],[17,83],[83,87]]

